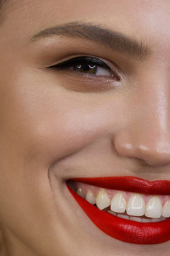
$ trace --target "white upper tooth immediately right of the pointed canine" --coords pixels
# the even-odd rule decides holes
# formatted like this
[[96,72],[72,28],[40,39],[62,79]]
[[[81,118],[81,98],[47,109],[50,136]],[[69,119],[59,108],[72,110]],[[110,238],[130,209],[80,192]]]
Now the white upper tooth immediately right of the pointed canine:
[[116,193],[111,201],[111,210],[115,213],[125,213],[126,204],[123,193]]

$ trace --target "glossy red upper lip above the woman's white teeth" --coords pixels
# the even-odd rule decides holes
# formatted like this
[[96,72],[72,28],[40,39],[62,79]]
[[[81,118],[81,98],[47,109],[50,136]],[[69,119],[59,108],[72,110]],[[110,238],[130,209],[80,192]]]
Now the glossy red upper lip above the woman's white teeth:
[[71,181],[88,183],[101,188],[130,192],[170,195],[170,181],[147,181],[133,176],[72,178]]

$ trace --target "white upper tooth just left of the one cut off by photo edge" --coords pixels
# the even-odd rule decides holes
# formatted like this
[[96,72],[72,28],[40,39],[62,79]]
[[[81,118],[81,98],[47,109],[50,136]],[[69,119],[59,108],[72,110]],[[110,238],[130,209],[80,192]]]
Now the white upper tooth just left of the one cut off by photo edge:
[[162,215],[162,201],[158,196],[152,196],[146,205],[145,216],[150,218],[160,218]]

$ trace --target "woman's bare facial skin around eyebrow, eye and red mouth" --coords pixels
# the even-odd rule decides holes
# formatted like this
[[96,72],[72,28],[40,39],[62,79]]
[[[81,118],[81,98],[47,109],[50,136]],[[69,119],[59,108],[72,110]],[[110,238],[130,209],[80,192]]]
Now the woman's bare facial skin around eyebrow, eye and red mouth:
[[[29,43],[72,21],[144,40],[152,55],[140,61],[58,36]],[[169,255],[170,242],[132,245],[102,233],[65,186],[80,176],[170,180],[169,23],[169,0],[11,1],[0,28],[1,255]],[[86,92],[90,78],[47,69],[79,52],[116,63],[122,79],[107,87],[98,78]]]

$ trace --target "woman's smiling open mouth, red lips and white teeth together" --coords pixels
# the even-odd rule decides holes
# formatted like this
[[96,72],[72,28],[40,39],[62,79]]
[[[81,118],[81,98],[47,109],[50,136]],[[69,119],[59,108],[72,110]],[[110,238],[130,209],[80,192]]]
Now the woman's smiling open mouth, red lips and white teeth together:
[[110,237],[139,245],[170,240],[170,181],[72,178],[67,188],[94,225]]

